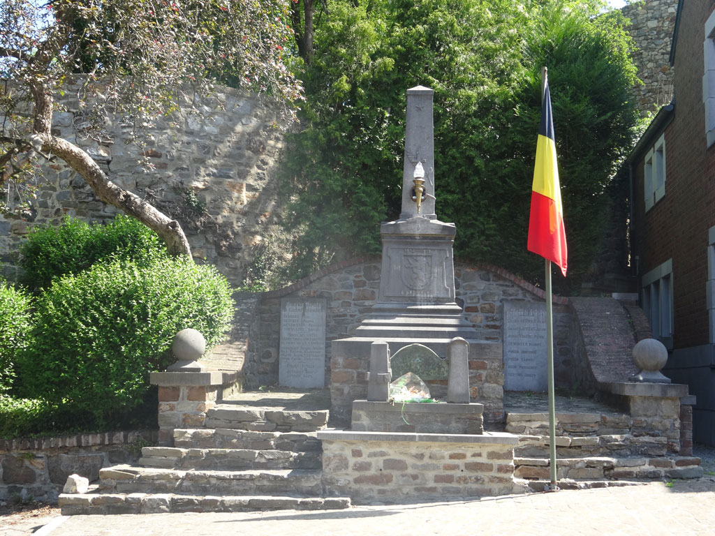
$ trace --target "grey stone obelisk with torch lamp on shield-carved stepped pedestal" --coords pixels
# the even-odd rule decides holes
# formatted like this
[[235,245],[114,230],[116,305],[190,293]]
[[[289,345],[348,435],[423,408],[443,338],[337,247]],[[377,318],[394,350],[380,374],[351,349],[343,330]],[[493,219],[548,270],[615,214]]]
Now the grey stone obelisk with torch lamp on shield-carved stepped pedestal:
[[[386,342],[393,356],[418,343],[445,361],[455,337],[468,342],[473,360],[479,359],[485,344],[495,344],[478,339],[455,299],[457,229],[435,214],[432,100],[432,89],[417,86],[407,91],[402,211],[400,219],[380,227],[383,259],[378,299],[353,337],[332,342],[332,370],[349,363],[358,378],[357,384],[347,387],[331,384],[331,417],[336,422],[349,422],[352,400],[367,397],[361,372],[368,372],[370,344],[377,340]],[[430,392],[445,391],[446,380],[427,383]]]

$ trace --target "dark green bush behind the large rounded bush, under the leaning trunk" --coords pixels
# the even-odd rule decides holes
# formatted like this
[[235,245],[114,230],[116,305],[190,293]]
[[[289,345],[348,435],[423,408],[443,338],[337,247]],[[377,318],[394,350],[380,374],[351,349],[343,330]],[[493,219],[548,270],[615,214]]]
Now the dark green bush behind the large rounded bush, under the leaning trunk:
[[106,225],[66,217],[57,227],[33,229],[20,247],[19,279],[30,289],[46,289],[54,277],[78,274],[110,257],[146,264],[165,254],[164,242],[136,219],[117,214]]

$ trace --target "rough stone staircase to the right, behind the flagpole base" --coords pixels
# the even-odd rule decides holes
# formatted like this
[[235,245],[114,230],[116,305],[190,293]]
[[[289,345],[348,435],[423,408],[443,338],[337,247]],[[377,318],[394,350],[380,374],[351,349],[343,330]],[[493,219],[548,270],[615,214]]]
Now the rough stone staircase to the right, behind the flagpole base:
[[[514,477],[532,490],[550,483],[550,438],[546,395],[511,394],[505,431],[519,435]],[[637,424],[637,423],[636,423]],[[669,438],[633,433],[633,419],[591,400],[561,397],[556,404],[558,487],[580,489],[634,485],[652,480],[696,478],[697,457],[670,452]]]

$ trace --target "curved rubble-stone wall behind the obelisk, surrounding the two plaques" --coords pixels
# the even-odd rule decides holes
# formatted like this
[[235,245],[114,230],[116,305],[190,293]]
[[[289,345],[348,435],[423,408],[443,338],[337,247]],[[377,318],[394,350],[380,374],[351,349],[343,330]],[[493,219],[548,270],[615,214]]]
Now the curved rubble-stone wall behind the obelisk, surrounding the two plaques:
[[[257,307],[257,329],[250,339],[255,347],[247,352],[243,369],[247,386],[271,385],[278,381],[280,348],[280,299],[282,297],[320,297],[327,300],[327,340],[325,384],[342,389],[346,399],[358,399],[367,388],[367,361],[332,359],[334,339],[349,337],[370,313],[380,288],[380,259],[352,259],[312,274],[285,289],[262,294]],[[506,300],[543,301],[543,290],[533,287],[498,267],[455,264],[455,288],[464,300],[465,318],[477,331],[484,345],[480,356],[470,355],[469,374],[472,402],[485,405],[487,422],[503,419],[504,366],[503,304]],[[571,311],[566,299],[556,297],[554,312],[555,374],[557,384],[568,386],[571,367]],[[488,344],[494,343],[494,344]],[[251,346],[251,344],[250,344]],[[488,352],[487,347],[498,352]],[[472,352],[470,352],[472,353]],[[365,397],[364,394],[362,396]]]

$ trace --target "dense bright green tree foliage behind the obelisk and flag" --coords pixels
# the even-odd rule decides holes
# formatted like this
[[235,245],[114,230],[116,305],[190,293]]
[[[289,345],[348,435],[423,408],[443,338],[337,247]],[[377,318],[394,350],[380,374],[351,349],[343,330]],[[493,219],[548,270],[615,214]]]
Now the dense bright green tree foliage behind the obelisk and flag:
[[328,2],[302,77],[305,128],[291,141],[291,272],[378,253],[400,212],[405,91],[435,91],[437,214],[457,224],[455,255],[531,280],[526,251],[533,159],[548,66],[569,243],[578,281],[598,246],[605,188],[637,114],[631,40],[619,12],[586,0]]

